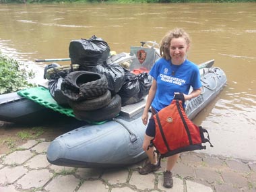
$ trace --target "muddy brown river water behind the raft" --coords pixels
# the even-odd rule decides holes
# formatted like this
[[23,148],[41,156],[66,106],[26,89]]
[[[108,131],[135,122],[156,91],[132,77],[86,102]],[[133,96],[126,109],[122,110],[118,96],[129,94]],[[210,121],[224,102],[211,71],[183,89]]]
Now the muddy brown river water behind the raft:
[[191,61],[215,59],[228,77],[194,119],[214,145],[203,152],[256,160],[256,3],[0,5],[0,50],[27,63],[39,83],[49,63],[35,59],[69,57],[71,40],[95,34],[129,52],[174,27],[191,35]]

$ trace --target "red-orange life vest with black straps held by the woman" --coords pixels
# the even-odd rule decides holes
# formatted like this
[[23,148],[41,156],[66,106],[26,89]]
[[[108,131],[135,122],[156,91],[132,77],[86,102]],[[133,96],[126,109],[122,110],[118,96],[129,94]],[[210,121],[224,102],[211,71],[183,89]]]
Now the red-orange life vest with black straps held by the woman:
[[[183,108],[184,95],[175,94],[171,104],[162,108],[154,115],[156,135],[152,144],[160,158],[179,154],[181,152],[202,150],[206,146],[202,143],[209,142],[210,137],[206,129],[197,127],[186,115]],[[207,133],[207,138],[203,133]],[[212,143],[210,143],[212,146]]]

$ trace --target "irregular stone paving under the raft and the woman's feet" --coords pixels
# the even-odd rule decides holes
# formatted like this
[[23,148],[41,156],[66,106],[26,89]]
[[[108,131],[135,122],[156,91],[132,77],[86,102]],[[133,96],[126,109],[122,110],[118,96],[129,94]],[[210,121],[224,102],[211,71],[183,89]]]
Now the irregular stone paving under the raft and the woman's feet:
[[[30,140],[2,155],[0,191],[256,191],[256,162],[186,152],[174,167],[174,187],[165,189],[164,168],[141,175],[139,166],[145,161],[111,170],[55,166],[46,160],[49,144],[44,139]],[[162,167],[165,164],[162,160]]]

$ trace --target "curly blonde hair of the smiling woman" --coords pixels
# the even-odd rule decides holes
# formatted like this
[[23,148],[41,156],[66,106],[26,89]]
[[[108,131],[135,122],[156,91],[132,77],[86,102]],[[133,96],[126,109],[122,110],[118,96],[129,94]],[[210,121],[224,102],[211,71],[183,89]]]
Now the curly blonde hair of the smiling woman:
[[185,38],[187,44],[190,43],[190,37],[185,30],[182,28],[175,28],[174,30],[171,30],[166,33],[166,35],[162,38],[160,42],[160,55],[164,57],[166,60],[170,60],[170,41],[172,38],[179,38],[183,37]]

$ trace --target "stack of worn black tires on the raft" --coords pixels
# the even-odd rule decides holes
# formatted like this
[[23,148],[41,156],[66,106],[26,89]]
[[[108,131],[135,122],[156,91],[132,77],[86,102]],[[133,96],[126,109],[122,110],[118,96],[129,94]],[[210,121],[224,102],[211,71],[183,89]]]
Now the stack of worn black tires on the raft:
[[91,71],[74,71],[61,84],[63,95],[77,119],[106,121],[121,111],[121,97],[111,95],[105,75]]

